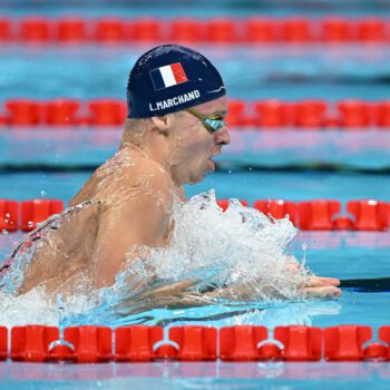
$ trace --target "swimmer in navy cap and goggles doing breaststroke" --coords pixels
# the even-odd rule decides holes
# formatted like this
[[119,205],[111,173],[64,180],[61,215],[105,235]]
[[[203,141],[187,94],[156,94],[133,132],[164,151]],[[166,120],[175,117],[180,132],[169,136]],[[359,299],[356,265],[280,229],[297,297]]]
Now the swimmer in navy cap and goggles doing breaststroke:
[[[168,246],[173,206],[175,199],[184,199],[183,186],[214,172],[214,157],[231,143],[221,75],[192,49],[165,45],[144,53],[130,71],[127,104],[119,150],[71,199],[75,213],[46,235],[33,233],[37,247],[20,293],[40,284],[69,293],[85,284],[108,287],[131,266],[130,248]],[[137,251],[131,254],[137,262]],[[298,267],[292,260],[291,272]],[[188,285],[183,281],[158,293],[183,296]],[[338,285],[337,279],[312,276],[301,289],[310,296],[328,298],[341,294]],[[217,290],[220,296],[224,291],[226,296],[246,293]]]

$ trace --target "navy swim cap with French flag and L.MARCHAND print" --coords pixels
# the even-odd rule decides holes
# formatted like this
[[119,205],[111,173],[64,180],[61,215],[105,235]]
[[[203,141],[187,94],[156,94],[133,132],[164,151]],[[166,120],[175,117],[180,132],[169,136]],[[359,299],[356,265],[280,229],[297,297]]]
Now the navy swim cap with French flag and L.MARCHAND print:
[[138,58],[127,84],[128,118],[150,118],[226,95],[221,75],[199,52],[158,46]]

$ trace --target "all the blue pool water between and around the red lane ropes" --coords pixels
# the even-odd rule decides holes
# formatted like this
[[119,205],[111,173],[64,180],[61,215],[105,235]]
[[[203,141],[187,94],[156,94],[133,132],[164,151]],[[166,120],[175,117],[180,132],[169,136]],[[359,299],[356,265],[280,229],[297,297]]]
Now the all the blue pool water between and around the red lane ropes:
[[[168,6],[167,6],[168,3]],[[322,18],[390,17],[387,1],[2,1],[0,13],[19,18],[31,14],[88,18],[118,16],[192,17],[290,17]],[[145,46],[28,47],[0,46],[0,106],[10,98],[50,99],[71,97],[125,98],[127,75]],[[230,95],[245,100],[280,98],[296,100],[344,98],[388,99],[388,46],[204,46],[198,47],[221,69]],[[289,131],[233,134],[234,143],[220,158],[222,170],[208,175],[187,196],[215,188],[217,197],[237,197],[253,203],[259,198],[305,201],[335,198],[345,204],[355,198],[390,202],[387,173],[352,169],[389,168],[390,136],[387,131]],[[0,198],[23,201],[50,197],[68,202],[97,166],[116,149],[120,129],[84,129],[77,133],[47,128],[0,130]],[[315,142],[313,142],[313,139]],[[257,145],[256,147],[254,145]],[[293,167],[331,165],[350,170],[291,170]],[[290,170],[270,170],[289,167]],[[255,170],[267,168],[269,170]],[[60,169],[61,172],[55,172]],[[72,169],[72,170],[70,170]],[[0,257],[21,234],[0,235]],[[390,276],[390,233],[305,232],[299,233],[290,251],[303,257],[321,275],[348,279]],[[216,245],[217,251],[217,245]],[[279,302],[251,306],[221,305],[152,310],[123,323],[188,324],[215,326],[237,323],[308,324],[330,326],[341,323],[369,324],[377,330],[389,324],[390,293],[344,290],[338,300]],[[81,318],[99,322],[99,318]],[[105,319],[107,321],[107,318]],[[388,389],[389,364],[372,363],[156,363],[104,365],[43,365],[0,362],[0,387],[14,389]]]

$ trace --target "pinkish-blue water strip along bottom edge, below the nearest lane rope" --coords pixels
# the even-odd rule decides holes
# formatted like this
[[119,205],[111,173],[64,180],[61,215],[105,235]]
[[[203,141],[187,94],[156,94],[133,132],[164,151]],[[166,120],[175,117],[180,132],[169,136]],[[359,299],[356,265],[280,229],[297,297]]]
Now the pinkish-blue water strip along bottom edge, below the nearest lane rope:
[[[381,363],[108,363],[0,364],[3,388],[28,389],[332,389],[359,386],[387,390],[389,364]],[[19,382],[17,382],[17,380]]]

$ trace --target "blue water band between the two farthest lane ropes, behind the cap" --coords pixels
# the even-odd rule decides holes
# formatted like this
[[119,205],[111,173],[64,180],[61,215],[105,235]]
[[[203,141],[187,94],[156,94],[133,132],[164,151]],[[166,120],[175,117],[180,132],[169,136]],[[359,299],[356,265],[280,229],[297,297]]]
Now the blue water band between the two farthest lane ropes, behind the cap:
[[[388,98],[390,50],[383,45],[368,45],[364,50],[358,45],[194,48],[215,62],[232,98]],[[8,71],[0,74],[0,101],[17,97],[124,99],[128,72],[147,49],[149,46],[134,43],[4,45],[0,47],[0,68]]]

